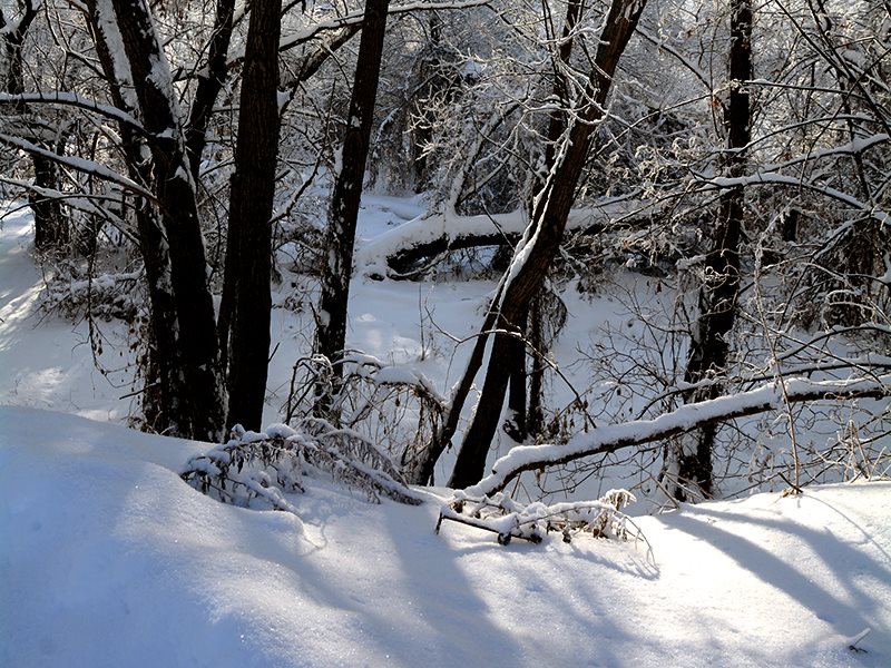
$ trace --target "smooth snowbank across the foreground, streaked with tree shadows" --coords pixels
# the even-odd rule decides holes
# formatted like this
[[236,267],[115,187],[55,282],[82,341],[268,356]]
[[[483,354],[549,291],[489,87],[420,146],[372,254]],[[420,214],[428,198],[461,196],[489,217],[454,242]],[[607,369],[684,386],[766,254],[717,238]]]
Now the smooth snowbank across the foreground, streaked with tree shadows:
[[891,665],[891,483],[638,518],[649,556],[324,480],[226,507],[177,475],[199,448],[0,407],[0,666]]

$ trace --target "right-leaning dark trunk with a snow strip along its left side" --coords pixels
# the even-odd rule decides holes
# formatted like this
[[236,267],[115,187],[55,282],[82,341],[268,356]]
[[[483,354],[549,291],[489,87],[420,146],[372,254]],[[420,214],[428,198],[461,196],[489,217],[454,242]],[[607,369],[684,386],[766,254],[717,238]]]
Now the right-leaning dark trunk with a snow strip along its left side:
[[[586,102],[576,111],[577,117],[567,118],[568,128],[566,150],[551,170],[541,194],[535,200],[532,222],[523,240],[515,253],[515,262],[520,253],[526,255],[522,264],[510,269],[509,278],[502,284],[493,302],[490,316],[499,328],[516,331],[520,316],[527,313],[531,299],[540,292],[548,268],[556,254],[566,220],[576,196],[578,183],[595,124],[603,119],[604,108],[613,76],[619,58],[630,39],[646,2],[638,0],[614,0],[600,36],[600,43],[584,92]],[[477,344],[480,345],[479,342]],[[505,400],[508,374],[499,367],[498,361],[505,355],[507,337],[496,335],[490,353],[489,367],[483,383],[482,395],[477,404],[470,425],[461,443],[458,460],[449,485],[463,488],[478,482],[486,470],[486,456],[495,435],[501,405]],[[481,364],[480,354],[478,364]],[[476,361],[477,357],[474,356]],[[468,375],[476,376],[479,365],[468,369]],[[457,411],[460,413],[464,397],[456,395],[447,426],[457,425]],[[453,426],[452,426],[453,429]],[[450,433],[448,439],[451,439]]]

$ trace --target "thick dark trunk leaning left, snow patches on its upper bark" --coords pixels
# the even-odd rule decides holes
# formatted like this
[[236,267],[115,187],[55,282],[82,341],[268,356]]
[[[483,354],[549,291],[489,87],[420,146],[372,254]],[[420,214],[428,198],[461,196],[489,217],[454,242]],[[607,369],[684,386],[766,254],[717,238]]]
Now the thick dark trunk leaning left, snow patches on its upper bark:
[[[88,7],[96,35],[104,40],[106,76],[119,98],[139,114],[150,153],[150,174],[141,176],[151,179],[158,215],[141,219],[140,246],[155,311],[153,355],[164,369],[159,382],[170,384],[161,387],[168,393],[163,402],[166,431],[218,441],[225,423],[219,346],[196,184],[167,60],[143,0],[90,0]],[[124,55],[114,48],[117,43],[123,43]],[[126,100],[124,90],[129,87],[135,99]],[[137,165],[146,164],[139,147],[133,153]],[[163,316],[169,320],[159,322]]]

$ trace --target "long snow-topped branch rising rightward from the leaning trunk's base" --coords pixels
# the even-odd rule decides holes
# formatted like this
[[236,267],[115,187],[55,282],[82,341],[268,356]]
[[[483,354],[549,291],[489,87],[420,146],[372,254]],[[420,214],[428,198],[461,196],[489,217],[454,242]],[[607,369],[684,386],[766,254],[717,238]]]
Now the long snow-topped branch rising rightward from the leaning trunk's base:
[[772,382],[747,392],[686,404],[654,420],[635,420],[604,426],[590,433],[579,434],[565,445],[519,445],[495,463],[490,475],[478,484],[467,488],[464,493],[482,498],[503,490],[523,471],[566,464],[584,456],[606,454],[633,445],[669,439],[707,424],[775,411],[782,409],[786,401],[802,403],[889,395],[891,395],[891,374],[842,381],[811,381],[796,377],[786,379],[783,383]]

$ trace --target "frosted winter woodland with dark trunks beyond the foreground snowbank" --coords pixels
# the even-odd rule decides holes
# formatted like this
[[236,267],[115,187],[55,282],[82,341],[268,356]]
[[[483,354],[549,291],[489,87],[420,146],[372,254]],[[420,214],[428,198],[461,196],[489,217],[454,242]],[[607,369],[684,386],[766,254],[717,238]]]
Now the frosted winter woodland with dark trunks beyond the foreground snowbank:
[[170,466],[214,503],[433,498],[503,547],[891,499],[891,2],[0,0],[0,242],[38,277],[0,348],[53,332],[94,402],[10,352],[0,404],[197,441]]

